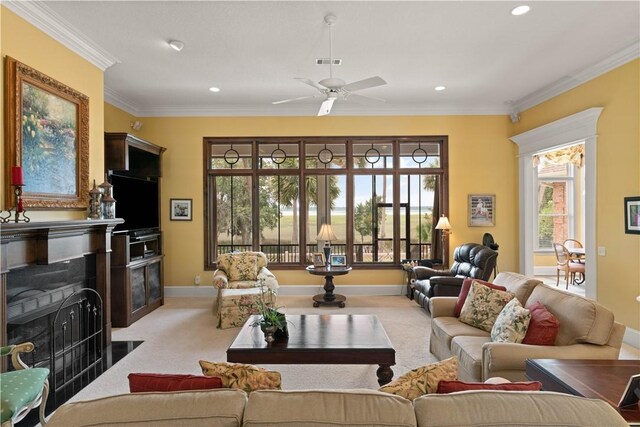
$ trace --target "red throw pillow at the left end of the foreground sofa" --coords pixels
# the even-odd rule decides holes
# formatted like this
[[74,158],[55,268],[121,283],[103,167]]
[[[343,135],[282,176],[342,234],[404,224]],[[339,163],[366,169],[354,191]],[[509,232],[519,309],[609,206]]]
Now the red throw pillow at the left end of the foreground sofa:
[[131,393],[222,388],[220,378],[202,375],[129,374],[128,378]]

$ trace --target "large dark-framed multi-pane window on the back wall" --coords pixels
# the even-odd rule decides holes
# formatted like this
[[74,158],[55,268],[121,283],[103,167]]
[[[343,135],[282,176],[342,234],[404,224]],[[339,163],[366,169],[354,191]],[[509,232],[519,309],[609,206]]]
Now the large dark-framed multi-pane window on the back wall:
[[431,258],[446,148],[446,137],[205,138],[205,268],[245,250],[302,268],[326,223],[351,265]]

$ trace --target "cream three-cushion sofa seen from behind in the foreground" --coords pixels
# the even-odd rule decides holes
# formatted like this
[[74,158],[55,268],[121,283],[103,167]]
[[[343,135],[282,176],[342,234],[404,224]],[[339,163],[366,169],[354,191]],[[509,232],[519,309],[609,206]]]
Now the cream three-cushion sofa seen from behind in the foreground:
[[217,389],[122,394],[62,405],[47,427],[487,425],[628,426],[601,400],[553,392],[466,391],[413,401],[373,390]]

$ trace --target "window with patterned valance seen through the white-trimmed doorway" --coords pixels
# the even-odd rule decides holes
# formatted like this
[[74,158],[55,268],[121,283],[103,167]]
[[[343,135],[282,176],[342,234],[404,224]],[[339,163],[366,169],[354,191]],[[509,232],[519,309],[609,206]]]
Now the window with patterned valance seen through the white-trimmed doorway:
[[551,251],[553,243],[564,242],[574,232],[574,168],[539,158],[537,172],[536,250]]

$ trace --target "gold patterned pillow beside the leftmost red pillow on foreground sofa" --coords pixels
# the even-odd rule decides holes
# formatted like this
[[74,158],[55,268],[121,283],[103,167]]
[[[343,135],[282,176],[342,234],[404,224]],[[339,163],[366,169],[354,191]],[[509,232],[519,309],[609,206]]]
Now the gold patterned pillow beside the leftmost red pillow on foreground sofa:
[[280,372],[267,371],[243,363],[200,361],[202,373],[208,377],[219,377],[225,388],[238,388],[247,393],[256,390],[280,390]]

